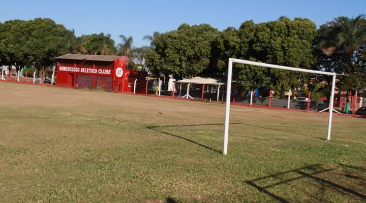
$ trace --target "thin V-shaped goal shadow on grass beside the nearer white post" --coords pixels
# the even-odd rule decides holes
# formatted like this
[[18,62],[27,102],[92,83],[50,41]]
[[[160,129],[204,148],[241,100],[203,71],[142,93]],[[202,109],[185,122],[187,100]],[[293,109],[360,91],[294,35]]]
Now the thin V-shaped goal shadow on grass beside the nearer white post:
[[[230,125],[235,125],[235,124],[242,124],[242,123],[230,123]],[[173,133],[170,133],[170,132],[167,132],[167,131],[164,131],[162,129],[157,129],[157,128],[164,128],[164,127],[191,127],[191,126],[210,126],[210,125],[224,125],[224,123],[211,123],[211,124],[191,124],[191,125],[162,125],[162,126],[147,126],[146,128],[147,129],[150,129],[150,130],[154,130],[154,131],[157,131],[157,132],[161,132],[161,133],[164,133],[168,136],[172,136],[172,137],[175,137],[175,138],[179,138],[179,139],[182,139],[182,140],[185,140],[185,141],[188,141],[190,143],[193,143],[193,144],[196,144],[200,147],[204,147],[206,149],[209,149],[211,151],[214,151],[214,152],[217,152],[217,153],[222,153],[222,151],[219,151],[219,150],[216,150],[212,147],[208,147],[206,145],[203,145],[201,143],[198,143],[194,140],[191,140],[191,139],[188,139],[188,138],[185,138],[185,137],[182,137],[182,136],[179,136],[178,134],[173,134]]]

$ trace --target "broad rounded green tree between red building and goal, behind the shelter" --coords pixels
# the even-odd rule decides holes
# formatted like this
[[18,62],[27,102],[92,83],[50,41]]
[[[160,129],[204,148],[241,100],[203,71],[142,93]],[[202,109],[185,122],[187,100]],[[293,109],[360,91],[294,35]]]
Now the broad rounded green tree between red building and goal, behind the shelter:
[[[182,24],[177,30],[156,35],[154,51],[159,55],[160,70],[164,74],[182,77],[201,74],[210,63],[211,42],[218,35],[219,31],[208,24]],[[156,54],[150,53],[151,58],[156,59]],[[155,64],[148,57],[146,62]]]

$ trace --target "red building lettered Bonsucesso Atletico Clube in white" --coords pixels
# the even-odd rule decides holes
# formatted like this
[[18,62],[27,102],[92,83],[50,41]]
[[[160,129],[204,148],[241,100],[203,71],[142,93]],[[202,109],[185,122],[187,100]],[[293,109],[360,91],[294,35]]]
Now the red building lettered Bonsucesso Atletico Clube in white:
[[134,79],[145,80],[144,74],[126,69],[125,56],[65,54],[56,60],[56,85],[61,87],[133,92]]

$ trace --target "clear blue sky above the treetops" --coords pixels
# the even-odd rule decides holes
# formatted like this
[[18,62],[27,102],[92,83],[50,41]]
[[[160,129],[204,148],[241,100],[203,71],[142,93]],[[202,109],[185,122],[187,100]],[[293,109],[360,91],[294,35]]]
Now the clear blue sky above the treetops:
[[154,31],[166,32],[182,23],[208,23],[223,30],[238,28],[246,20],[255,23],[280,16],[309,18],[320,26],[338,16],[366,14],[366,0],[156,0],[156,1],[18,1],[0,0],[0,22],[13,19],[51,18],[76,36],[110,33],[116,44],[119,35],[132,36],[135,46],[148,45],[142,38]]

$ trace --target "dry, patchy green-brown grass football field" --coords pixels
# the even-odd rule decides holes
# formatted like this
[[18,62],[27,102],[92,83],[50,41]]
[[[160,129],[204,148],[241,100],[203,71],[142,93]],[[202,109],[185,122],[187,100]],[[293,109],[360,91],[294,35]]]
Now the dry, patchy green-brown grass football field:
[[0,83],[1,202],[363,202],[366,119]]

